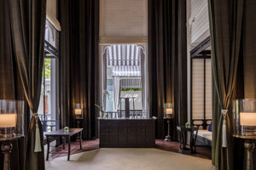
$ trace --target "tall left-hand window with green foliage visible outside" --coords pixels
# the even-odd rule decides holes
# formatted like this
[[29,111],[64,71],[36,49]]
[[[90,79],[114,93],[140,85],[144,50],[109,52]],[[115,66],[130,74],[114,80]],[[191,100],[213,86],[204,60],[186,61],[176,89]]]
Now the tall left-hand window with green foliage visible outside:
[[46,21],[43,80],[38,108],[44,132],[51,132],[59,127],[58,43],[58,31]]

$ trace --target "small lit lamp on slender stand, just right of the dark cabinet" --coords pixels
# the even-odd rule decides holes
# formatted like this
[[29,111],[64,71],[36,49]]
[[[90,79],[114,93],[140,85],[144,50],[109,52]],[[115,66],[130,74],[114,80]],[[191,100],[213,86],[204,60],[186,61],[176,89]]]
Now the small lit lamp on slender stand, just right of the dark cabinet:
[[167,120],[168,123],[168,133],[166,135],[166,141],[171,141],[172,136],[171,136],[171,120],[173,118],[173,106],[171,103],[166,103],[165,104],[165,114],[164,114],[164,119]]

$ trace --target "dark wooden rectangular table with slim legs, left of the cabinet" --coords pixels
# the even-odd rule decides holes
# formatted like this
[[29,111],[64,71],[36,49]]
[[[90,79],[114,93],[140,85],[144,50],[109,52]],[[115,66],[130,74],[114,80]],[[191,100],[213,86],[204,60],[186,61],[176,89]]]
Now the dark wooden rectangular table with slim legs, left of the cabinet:
[[66,132],[63,128],[60,130],[57,130],[52,133],[45,133],[46,140],[47,140],[47,156],[46,156],[46,161],[49,160],[49,141],[51,138],[63,138],[63,150],[65,150],[65,144],[66,144],[66,138],[68,142],[68,155],[67,155],[67,161],[70,159],[70,137],[73,136],[74,134],[79,133],[79,144],[80,144],[80,150],[82,150],[82,130],[83,128],[69,128],[68,132]]

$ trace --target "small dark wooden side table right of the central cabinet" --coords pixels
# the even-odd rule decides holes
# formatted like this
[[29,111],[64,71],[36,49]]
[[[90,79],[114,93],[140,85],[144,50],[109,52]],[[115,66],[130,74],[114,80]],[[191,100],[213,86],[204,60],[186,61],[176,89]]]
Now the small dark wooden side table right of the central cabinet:
[[[188,132],[190,133],[189,149],[186,148]],[[180,153],[187,153],[188,150],[190,151],[190,153],[196,153],[195,142],[196,142],[197,133],[198,133],[198,127],[177,126],[177,135],[178,135],[178,139],[179,139],[179,150],[178,151]]]

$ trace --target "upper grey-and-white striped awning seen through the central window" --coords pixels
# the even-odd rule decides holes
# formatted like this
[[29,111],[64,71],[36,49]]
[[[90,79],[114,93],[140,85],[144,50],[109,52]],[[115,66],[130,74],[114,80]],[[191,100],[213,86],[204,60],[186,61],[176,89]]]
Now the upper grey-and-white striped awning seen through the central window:
[[107,65],[141,65],[141,48],[135,44],[107,48]]

